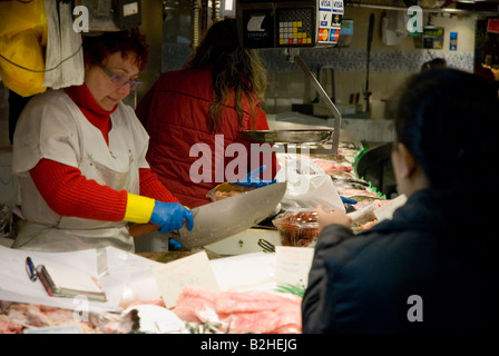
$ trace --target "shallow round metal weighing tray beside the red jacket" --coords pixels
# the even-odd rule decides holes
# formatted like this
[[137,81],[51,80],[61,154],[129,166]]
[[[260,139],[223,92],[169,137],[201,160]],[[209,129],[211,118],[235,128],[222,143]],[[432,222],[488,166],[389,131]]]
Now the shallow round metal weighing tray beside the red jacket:
[[333,135],[332,129],[293,129],[239,131],[247,139],[266,144],[325,144]]

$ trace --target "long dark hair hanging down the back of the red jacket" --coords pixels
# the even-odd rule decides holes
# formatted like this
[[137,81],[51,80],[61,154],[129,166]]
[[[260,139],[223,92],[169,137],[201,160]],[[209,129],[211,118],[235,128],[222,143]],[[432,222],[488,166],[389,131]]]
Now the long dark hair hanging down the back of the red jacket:
[[219,128],[224,106],[233,93],[239,123],[243,123],[243,96],[250,102],[254,119],[254,98],[260,101],[264,99],[266,70],[255,50],[239,46],[235,19],[212,24],[184,68],[213,69],[215,97],[209,108],[213,130]]

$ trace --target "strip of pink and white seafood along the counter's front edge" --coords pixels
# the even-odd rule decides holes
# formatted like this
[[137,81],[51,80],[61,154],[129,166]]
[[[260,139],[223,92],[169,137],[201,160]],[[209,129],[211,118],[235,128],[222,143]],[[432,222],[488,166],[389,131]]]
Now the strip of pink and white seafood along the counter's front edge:
[[0,301],[0,334],[299,334],[302,298],[283,291],[211,291],[186,286],[177,306],[144,305],[86,316],[37,304]]

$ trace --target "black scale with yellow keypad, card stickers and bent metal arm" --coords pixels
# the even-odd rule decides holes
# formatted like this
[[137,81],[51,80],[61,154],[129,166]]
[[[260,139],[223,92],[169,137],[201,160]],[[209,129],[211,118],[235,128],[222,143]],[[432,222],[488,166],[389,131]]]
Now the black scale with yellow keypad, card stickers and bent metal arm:
[[[283,48],[285,59],[296,62],[334,117],[332,148],[323,154],[337,155],[341,112],[300,57],[300,48],[335,47],[343,19],[343,0],[255,1],[237,0],[236,17],[239,41],[245,48]],[[253,131],[256,132],[257,131]],[[284,132],[265,132],[266,137]],[[300,134],[300,132],[299,132]],[[305,135],[305,132],[301,132]],[[316,131],[306,135],[316,135]],[[299,135],[292,141],[304,144]],[[265,139],[264,142],[273,144]],[[317,144],[317,142],[307,142]]]

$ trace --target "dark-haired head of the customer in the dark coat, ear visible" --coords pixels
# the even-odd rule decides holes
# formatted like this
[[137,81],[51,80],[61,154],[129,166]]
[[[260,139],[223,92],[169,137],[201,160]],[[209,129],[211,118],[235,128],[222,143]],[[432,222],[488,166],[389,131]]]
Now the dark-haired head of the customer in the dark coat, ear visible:
[[498,101],[497,90],[464,71],[436,69],[411,77],[399,99],[392,151],[402,192],[425,187],[462,192],[470,184],[474,190],[495,181]]

